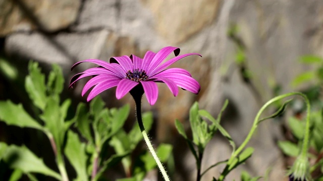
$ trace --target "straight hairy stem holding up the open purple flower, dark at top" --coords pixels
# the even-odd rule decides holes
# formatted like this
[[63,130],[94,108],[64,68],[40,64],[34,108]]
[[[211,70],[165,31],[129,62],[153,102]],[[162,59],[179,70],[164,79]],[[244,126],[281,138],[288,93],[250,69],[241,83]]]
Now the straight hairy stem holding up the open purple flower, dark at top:
[[143,139],[145,140],[146,144],[147,144],[147,147],[153,157],[153,159],[156,161],[156,164],[161,172],[161,174],[163,175],[164,177],[164,180],[166,181],[170,181],[170,177],[168,176],[167,174],[167,171],[165,170],[163,164],[160,162],[154,148],[152,147],[152,144],[149,140],[149,137],[148,137],[148,134],[143,126],[143,122],[142,122],[142,118],[141,118],[141,96],[133,96],[134,100],[135,100],[135,103],[136,103],[136,115],[137,115],[137,121],[138,121],[138,124],[139,124],[139,128],[140,128],[140,131],[142,133],[142,136],[143,136]]

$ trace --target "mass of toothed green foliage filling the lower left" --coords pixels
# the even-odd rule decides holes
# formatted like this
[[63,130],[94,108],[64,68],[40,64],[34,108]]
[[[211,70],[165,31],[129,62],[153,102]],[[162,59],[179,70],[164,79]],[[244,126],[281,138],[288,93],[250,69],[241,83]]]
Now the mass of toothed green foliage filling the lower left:
[[[139,162],[144,164],[133,164],[130,153],[142,140],[142,135],[136,124],[129,133],[123,130],[130,112],[129,105],[107,109],[97,97],[89,106],[80,103],[74,118],[67,119],[71,100],[60,99],[64,86],[61,68],[53,65],[47,78],[36,62],[30,62],[28,69],[25,88],[34,112],[28,113],[22,104],[10,100],[0,101],[0,120],[8,125],[37,129],[44,133],[52,146],[59,173],[49,168],[26,146],[0,142],[0,160],[13,170],[10,180],[18,180],[23,174],[30,180],[37,180],[35,173],[70,180],[72,178],[66,171],[64,157],[75,169],[76,177],[73,180],[105,179],[102,173],[120,162],[127,176],[142,180],[149,170],[156,167],[147,152],[142,152],[138,157]],[[143,120],[149,130],[152,114],[143,114]],[[112,148],[114,151],[111,151]],[[161,144],[157,150],[160,151],[158,156],[166,162],[171,156],[172,146]]]

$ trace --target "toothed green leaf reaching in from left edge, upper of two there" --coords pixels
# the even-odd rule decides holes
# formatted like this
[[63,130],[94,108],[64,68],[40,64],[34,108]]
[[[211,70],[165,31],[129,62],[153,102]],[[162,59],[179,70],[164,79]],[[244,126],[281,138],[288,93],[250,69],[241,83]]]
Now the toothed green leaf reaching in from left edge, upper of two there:
[[21,128],[43,130],[43,127],[24,110],[21,104],[13,104],[10,100],[0,102],[0,119],[8,125]]

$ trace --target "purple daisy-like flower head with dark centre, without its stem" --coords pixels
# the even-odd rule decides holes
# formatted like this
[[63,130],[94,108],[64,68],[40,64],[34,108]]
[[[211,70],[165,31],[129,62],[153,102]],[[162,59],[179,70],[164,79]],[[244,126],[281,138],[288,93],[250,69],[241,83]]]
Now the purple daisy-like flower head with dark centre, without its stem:
[[[163,63],[172,52],[174,58]],[[199,83],[192,78],[191,74],[182,68],[169,68],[176,61],[189,56],[199,55],[198,53],[188,53],[177,56],[180,49],[177,47],[164,47],[157,53],[147,51],[144,58],[139,58],[135,55],[112,57],[110,63],[102,60],[88,59],[75,63],[72,69],[80,63],[91,62],[99,65],[96,68],[89,68],[81,73],[74,75],[70,82],[70,87],[81,78],[93,76],[85,85],[82,91],[82,96],[91,88],[87,101],[90,101],[98,94],[106,89],[117,86],[117,99],[123,98],[136,86],[142,86],[146,94],[148,103],[154,105],[158,97],[158,88],[156,82],[165,83],[171,90],[174,96],[178,95],[178,87],[181,87],[189,92],[198,94],[200,91]]]

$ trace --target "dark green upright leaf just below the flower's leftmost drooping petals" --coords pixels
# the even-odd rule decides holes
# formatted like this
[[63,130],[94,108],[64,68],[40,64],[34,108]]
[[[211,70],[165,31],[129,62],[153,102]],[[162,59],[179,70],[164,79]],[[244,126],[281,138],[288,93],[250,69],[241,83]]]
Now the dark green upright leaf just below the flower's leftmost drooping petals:
[[73,119],[75,119],[75,126],[77,127],[81,135],[88,141],[93,141],[90,130],[89,113],[84,103],[79,103],[75,117]]

